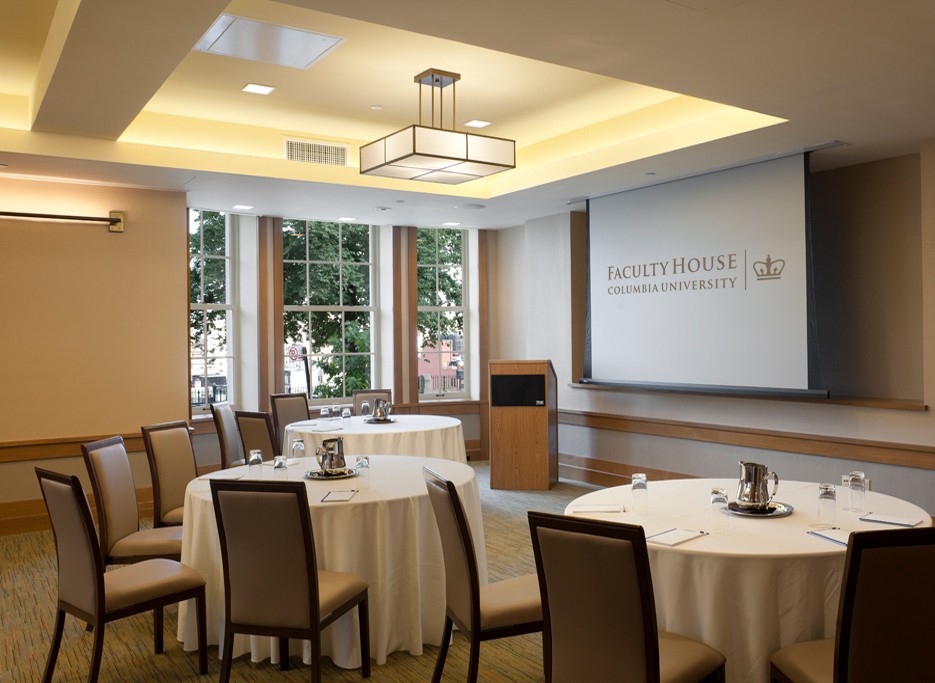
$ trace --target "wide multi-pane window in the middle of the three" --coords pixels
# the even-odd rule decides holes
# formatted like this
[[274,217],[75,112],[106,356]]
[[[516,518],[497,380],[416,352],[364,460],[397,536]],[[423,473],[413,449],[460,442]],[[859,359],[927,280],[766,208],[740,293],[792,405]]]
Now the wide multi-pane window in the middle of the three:
[[371,388],[375,239],[368,225],[283,221],[287,392],[344,398]]

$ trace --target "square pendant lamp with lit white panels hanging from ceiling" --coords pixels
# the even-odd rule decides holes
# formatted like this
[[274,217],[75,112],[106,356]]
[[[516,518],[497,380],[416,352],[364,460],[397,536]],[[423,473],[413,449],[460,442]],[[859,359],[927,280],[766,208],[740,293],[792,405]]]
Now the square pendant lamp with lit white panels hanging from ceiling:
[[[419,123],[360,148],[360,172],[404,180],[457,185],[516,167],[516,143],[454,129],[455,83],[461,75],[429,69],[419,84]],[[422,124],[423,86],[431,88],[431,124]],[[451,127],[444,128],[444,89],[451,86]],[[436,125],[436,111],[438,124]]]

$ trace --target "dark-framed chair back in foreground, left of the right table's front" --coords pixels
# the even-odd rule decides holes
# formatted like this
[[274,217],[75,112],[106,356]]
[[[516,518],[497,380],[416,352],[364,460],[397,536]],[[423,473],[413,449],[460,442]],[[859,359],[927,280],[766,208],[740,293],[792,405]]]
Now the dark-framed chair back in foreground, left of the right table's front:
[[659,641],[643,528],[529,513],[547,681],[658,681]]

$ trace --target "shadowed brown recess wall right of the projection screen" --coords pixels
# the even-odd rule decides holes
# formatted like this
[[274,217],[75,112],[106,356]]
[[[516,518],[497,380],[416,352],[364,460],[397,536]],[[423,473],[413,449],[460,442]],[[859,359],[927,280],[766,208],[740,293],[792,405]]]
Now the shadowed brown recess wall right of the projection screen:
[[922,398],[919,163],[812,176],[821,386],[833,396]]

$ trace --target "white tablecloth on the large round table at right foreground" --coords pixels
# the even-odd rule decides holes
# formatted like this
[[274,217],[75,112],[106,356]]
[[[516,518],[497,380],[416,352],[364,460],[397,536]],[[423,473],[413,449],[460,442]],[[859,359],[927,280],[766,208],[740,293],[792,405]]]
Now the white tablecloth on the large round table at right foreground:
[[[648,542],[659,628],[697,638],[727,657],[727,680],[769,680],[769,656],[803,640],[832,638],[846,548],[809,535],[819,520],[818,485],[780,481],[775,500],[794,512],[775,519],[714,513],[710,492],[726,488],[730,500],[737,479],[678,479],[650,482],[648,509],[633,512],[629,486],[586,494],[566,514],[643,526],[646,536],[671,528],[704,530],[674,547]],[[846,511],[839,489],[836,524],[845,531],[895,528],[861,522],[863,513]],[[577,511],[587,504],[622,504],[624,513]],[[869,511],[913,517],[929,526],[931,517],[911,503],[868,492]]]

